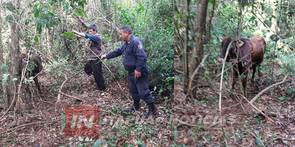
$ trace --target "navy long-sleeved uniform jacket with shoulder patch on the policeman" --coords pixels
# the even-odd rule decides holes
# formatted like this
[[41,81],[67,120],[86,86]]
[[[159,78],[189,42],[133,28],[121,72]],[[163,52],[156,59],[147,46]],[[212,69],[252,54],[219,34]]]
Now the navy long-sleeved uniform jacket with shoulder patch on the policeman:
[[122,47],[106,55],[107,59],[112,59],[122,55],[123,65],[127,71],[148,72],[147,55],[144,43],[138,37],[132,35],[129,42],[125,42]]

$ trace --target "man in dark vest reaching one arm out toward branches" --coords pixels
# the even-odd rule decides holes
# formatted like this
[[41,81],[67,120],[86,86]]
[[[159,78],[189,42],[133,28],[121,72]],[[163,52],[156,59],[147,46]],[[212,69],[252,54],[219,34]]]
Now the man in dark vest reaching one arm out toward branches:
[[90,39],[90,51],[89,51],[89,57],[90,59],[88,62],[85,64],[85,72],[87,74],[93,74],[96,85],[98,90],[102,91],[106,89],[105,84],[104,84],[104,79],[102,76],[102,62],[100,60],[101,56],[101,46],[102,46],[102,39],[100,34],[97,33],[97,27],[96,25],[90,25],[88,27],[89,34],[88,33],[79,33],[76,30],[72,30],[73,33],[80,35],[85,38]]

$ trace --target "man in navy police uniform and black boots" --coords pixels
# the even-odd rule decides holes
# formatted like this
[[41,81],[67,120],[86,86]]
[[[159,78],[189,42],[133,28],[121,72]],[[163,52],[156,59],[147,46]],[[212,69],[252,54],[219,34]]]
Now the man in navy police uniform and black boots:
[[148,89],[148,66],[147,55],[145,53],[144,43],[132,33],[128,25],[120,28],[120,38],[125,41],[122,47],[102,55],[101,59],[112,59],[122,55],[123,65],[128,71],[129,91],[133,98],[133,106],[128,110],[139,110],[140,99],[144,99],[148,104],[148,114],[145,119],[156,115],[153,98]]

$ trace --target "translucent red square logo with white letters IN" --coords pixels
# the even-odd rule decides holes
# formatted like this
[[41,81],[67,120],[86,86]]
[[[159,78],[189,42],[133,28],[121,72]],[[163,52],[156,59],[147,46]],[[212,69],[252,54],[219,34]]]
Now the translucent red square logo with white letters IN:
[[65,136],[99,136],[99,106],[65,106]]

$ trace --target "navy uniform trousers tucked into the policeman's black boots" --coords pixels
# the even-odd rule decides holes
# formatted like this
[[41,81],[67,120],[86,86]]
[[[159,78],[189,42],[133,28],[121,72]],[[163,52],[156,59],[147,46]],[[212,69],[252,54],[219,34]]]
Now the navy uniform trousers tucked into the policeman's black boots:
[[129,91],[133,99],[144,99],[152,103],[153,98],[148,89],[148,73],[142,72],[140,77],[135,78],[133,73],[128,73]]

